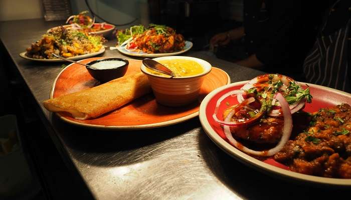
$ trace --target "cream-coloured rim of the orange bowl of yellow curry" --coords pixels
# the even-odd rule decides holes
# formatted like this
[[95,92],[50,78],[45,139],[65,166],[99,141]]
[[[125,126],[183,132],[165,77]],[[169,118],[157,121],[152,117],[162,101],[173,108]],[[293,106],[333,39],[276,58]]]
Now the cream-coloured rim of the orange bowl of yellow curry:
[[167,78],[167,79],[185,79],[185,78],[194,78],[194,77],[201,77],[204,76],[208,73],[211,72],[212,69],[212,65],[203,59],[197,58],[197,57],[190,57],[190,56],[163,56],[163,57],[156,57],[153,58],[153,60],[159,61],[159,60],[169,60],[169,59],[186,59],[186,60],[193,60],[198,62],[204,69],[204,71],[202,73],[199,74],[195,74],[195,75],[188,75],[188,76],[163,76],[163,75],[157,75],[154,73],[149,72],[148,70],[146,70],[146,66],[144,64],[141,64],[140,69],[143,73],[147,74],[147,75],[151,75],[151,76],[155,76],[155,77],[159,77],[159,78]]

